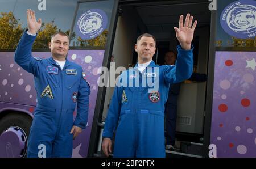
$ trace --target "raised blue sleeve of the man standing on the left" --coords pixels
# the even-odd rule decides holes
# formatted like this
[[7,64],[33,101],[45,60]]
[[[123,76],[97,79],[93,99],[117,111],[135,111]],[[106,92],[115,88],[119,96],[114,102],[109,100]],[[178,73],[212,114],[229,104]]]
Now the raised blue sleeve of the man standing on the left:
[[32,45],[36,39],[36,36],[28,35],[25,31],[19,41],[18,47],[15,50],[14,60],[24,70],[32,73],[36,76],[38,70],[38,61],[32,57]]

